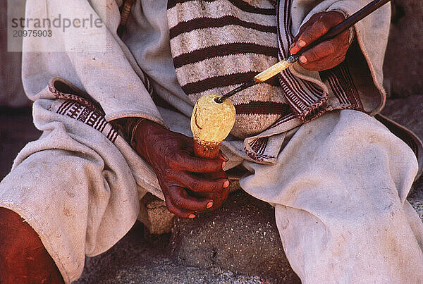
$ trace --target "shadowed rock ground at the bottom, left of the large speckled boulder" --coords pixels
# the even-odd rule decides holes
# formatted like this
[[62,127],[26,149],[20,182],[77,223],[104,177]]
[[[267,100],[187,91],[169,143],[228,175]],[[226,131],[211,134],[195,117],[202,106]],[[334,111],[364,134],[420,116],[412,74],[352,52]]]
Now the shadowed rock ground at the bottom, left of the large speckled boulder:
[[136,223],[109,251],[87,258],[82,283],[271,283],[269,278],[243,276],[221,268],[195,268],[168,259],[168,235],[152,236]]

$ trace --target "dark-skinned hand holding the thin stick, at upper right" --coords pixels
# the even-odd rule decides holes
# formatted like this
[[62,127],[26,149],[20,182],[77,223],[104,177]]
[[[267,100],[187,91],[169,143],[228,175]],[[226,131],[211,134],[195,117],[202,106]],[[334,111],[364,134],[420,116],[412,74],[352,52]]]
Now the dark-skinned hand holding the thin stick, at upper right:
[[[336,11],[314,14],[300,28],[300,32],[290,47],[290,53],[296,54],[301,47],[306,47],[343,20],[345,20],[343,14]],[[349,30],[345,30],[341,35],[305,51],[300,56],[301,66],[312,71],[323,71],[337,66],[345,60],[345,55],[350,47],[349,37]]]

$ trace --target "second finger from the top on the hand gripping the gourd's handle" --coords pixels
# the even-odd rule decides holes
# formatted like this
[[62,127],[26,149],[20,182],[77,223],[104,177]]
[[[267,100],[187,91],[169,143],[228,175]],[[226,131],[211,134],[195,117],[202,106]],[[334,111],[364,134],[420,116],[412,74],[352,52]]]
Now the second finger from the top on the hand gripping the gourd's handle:
[[168,171],[166,179],[173,180],[178,185],[195,192],[221,192],[224,188],[229,187],[227,178],[200,178],[183,171]]

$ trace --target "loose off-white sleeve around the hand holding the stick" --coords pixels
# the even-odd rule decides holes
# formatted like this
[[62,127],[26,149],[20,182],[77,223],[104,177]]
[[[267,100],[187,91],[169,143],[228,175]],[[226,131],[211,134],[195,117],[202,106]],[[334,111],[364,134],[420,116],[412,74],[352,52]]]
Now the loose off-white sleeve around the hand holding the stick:
[[[281,1],[283,3],[283,1]],[[307,0],[293,0],[291,5],[279,8],[279,13],[285,15],[286,20],[281,23],[281,46],[283,54],[298,34],[300,27],[304,25],[315,13],[325,11],[339,11],[345,16],[351,16],[360,8],[366,6],[366,0],[324,0],[310,2]],[[288,17],[288,18],[287,18]],[[374,13],[354,25],[355,40],[348,50],[345,61],[331,70],[315,72],[302,68],[300,64],[294,64],[290,71],[295,78],[307,80],[317,85],[318,89],[313,93],[312,104],[300,102],[304,99],[301,94],[287,94],[288,101],[292,101],[291,107],[302,121],[310,121],[317,118],[321,113],[333,109],[359,109],[370,115],[376,115],[384,106],[386,91],[383,86],[383,63],[386,45],[388,42],[389,24],[391,19],[391,6],[385,4]],[[341,66],[342,65],[342,66]],[[339,77],[337,73],[346,74]],[[336,84],[341,84],[333,89],[329,77],[336,78]],[[344,77],[344,78],[343,78]],[[345,84],[343,83],[345,82]],[[305,83],[307,87],[308,83]],[[304,87],[304,86],[303,86]],[[341,91],[339,91],[341,89]],[[311,91],[310,91],[311,92]],[[360,97],[350,105],[342,105],[336,96],[354,92]],[[336,93],[336,94],[335,94]],[[335,94],[335,95],[333,95]],[[357,106],[355,106],[357,105]]]

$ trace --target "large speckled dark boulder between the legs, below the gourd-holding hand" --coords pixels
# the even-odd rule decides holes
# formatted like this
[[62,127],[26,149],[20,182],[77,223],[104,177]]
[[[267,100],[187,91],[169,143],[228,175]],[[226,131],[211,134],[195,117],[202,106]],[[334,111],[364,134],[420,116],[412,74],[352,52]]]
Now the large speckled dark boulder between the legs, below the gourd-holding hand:
[[176,264],[300,283],[283,252],[273,207],[242,190],[217,211],[175,218],[169,249]]

